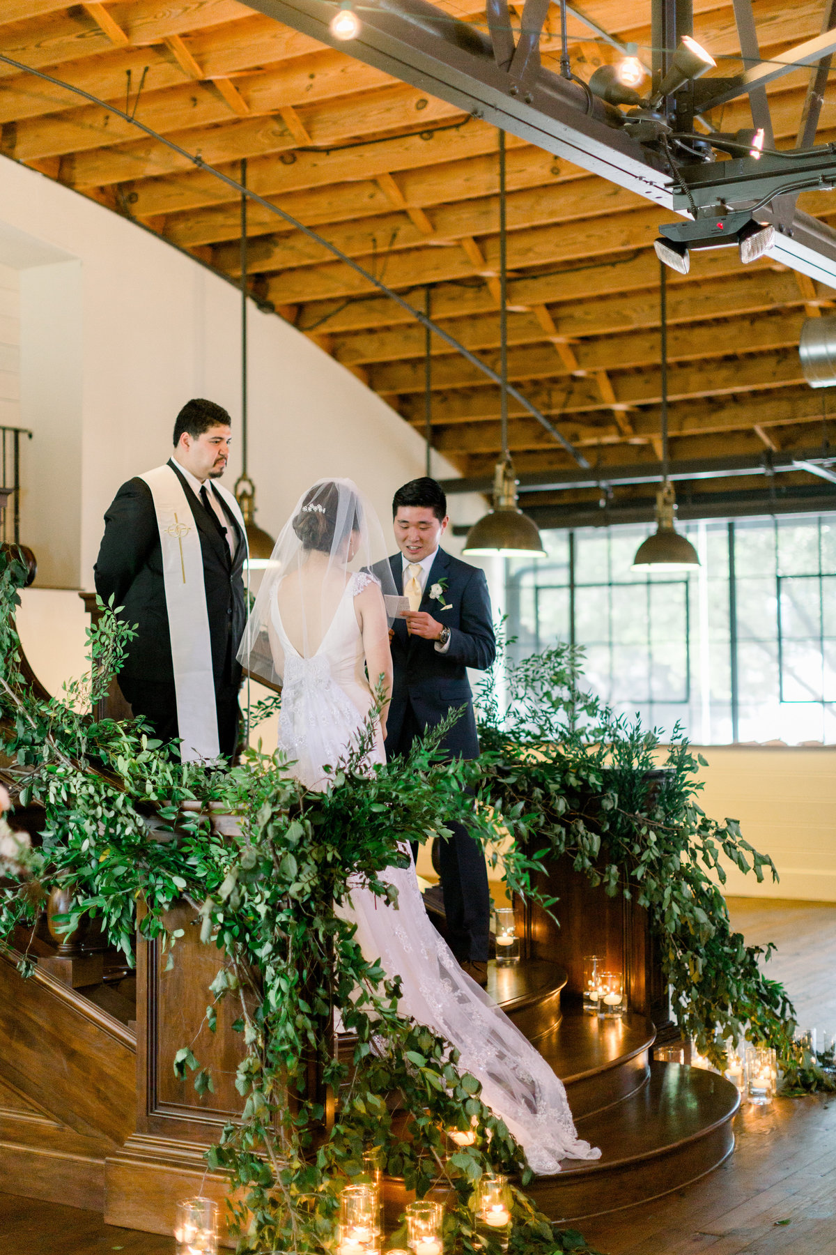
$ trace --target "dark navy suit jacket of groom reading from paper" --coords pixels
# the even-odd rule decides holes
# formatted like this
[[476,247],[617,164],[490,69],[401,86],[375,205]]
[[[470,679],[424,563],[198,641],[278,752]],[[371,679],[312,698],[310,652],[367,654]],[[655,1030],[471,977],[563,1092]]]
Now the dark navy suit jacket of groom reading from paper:
[[[396,553],[389,561],[395,587],[402,590],[404,557]],[[446,587],[441,599],[432,601],[430,591],[439,580],[446,580]],[[442,602],[450,609],[441,610]],[[450,645],[446,653],[440,654],[435,641],[410,636],[406,622],[402,619],[395,620],[392,638],[395,678],[386,723],[386,756],[394,758],[409,748],[404,735],[409,707],[424,729],[441,723],[450,707],[456,709],[466,707],[442,745],[456,757],[478,758],[479,739],[468,668],[486,671],[496,656],[485,572],[470,566],[469,562],[451,557],[440,548],[430,567],[421,610],[426,610],[450,629]]]

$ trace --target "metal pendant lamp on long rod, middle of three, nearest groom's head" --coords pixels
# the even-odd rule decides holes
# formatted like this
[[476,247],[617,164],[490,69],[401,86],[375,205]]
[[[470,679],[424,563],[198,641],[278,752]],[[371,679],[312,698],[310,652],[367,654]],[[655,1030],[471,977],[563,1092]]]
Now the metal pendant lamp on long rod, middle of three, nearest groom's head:
[[499,374],[503,456],[494,471],[494,508],[468,532],[470,556],[545,557],[534,520],[516,503],[516,476],[508,451],[508,266],[505,238],[505,132],[499,132]]

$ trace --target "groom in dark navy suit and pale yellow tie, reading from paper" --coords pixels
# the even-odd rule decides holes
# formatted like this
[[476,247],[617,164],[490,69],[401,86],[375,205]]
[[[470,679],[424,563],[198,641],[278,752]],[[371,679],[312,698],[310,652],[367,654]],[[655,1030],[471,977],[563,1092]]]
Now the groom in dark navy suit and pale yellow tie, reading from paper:
[[[435,479],[412,479],[392,501],[395,541],[390,558],[395,586],[410,611],[395,620],[392,700],[386,757],[409,753],[416,737],[464,712],[442,740],[450,757],[478,758],[476,718],[468,668],[485,671],[496,654],[485,575],[440,547],[447,499]],[[481,846],[460,823],[441,841],[440,867],[450,949],[469,975],[488,980],[490,895]]]

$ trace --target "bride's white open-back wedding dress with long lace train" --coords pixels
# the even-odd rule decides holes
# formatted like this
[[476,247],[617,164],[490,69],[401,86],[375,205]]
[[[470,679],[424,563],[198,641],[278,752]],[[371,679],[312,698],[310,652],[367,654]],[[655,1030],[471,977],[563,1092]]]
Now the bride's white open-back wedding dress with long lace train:
[[[372,705],[355,611],[355,597],[371,580],[367,574],[350,576],[318,649],[307,658],[291,644],[278,599],[271,599],[272,629],[283,654],[278,743],[293,759],[293,774],[312,789],[326,787],[326,764],[345,759]],[[386,761],[382,742],[370,761]],[[575,1133],[562,1082],[436,932],[415,867],[391,867],[382,878],[397,889],[397,907],[357,887],[347,917],[357,925],[363,955],[380,959],[387,976],[401,978],[401,1013],[455,1045],[461,1069],[481,1082],[485,1103],[505,1121],[534,1172],[559,1172],[562,1158],[597,1158],[600,1151]]]

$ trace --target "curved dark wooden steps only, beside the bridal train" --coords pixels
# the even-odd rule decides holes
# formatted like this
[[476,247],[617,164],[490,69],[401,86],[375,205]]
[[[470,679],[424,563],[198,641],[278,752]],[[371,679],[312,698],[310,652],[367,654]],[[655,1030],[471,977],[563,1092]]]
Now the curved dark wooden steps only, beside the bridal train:
[[575,1221],[647,1202],[722,1163],[739,1097],[713,1072],[653,1062],[645,1015],[599,1019],[570,999],[560,1012],[555,995],[567,983],[543,960],[489,965],[489,991],[563,1081],[578,1135],[600,1147],[599,1160],[565,1160],[528,1187],[553,1220]]

